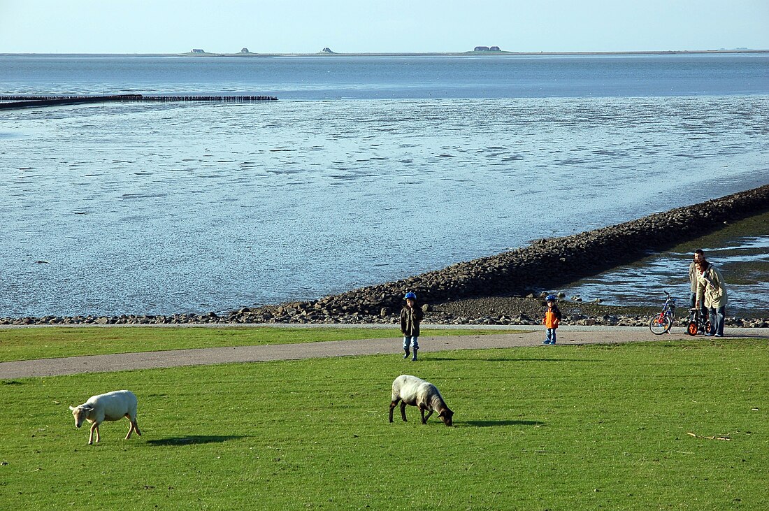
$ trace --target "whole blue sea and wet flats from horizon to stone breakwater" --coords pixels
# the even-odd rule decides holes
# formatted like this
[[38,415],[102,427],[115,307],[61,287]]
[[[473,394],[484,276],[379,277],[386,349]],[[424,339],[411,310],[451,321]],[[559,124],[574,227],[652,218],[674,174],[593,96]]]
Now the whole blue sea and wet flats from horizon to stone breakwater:
[[[279,98],[0,111],[0,317],[311,299],[742,191],[769,168],[767,55],[7,56],[0,88]],[[753,262],[766,236],[746,241],[764,247]],[[634,299],[658,300],[653,275]],[[611,303],[612,286],[582,293]],[[761,307],[761,289],[732,297]]]

